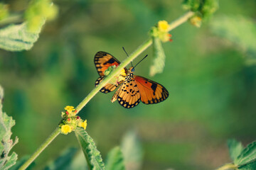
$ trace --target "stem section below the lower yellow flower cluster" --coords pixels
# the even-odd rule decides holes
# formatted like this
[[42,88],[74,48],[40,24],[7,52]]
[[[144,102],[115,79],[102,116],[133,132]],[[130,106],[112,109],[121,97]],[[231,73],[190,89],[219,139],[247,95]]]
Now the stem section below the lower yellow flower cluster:
[[23,170],[26,169],[35,159],[36,157],[38,157],[38,155],[44,150],[46,149],[46,147],[48,145],[50,145],[50,142],[52,142],[55,137],[57,137],[60,134],[60,128],[56,128],[52,134],[50,134],[50,136],[46,139],[45,142],[43,142],[43,144],[36,150],[35,153],[33,153],[31,155],[31,157],[19,168],[19,170]]

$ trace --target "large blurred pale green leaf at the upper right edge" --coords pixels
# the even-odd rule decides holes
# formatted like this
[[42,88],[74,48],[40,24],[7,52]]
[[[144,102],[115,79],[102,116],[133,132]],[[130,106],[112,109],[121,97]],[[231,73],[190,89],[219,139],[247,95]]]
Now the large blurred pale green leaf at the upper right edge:
[[256,23],[245,16],[218,16],[210,23],[216,35],[247,53],[247,63],[256,63]]

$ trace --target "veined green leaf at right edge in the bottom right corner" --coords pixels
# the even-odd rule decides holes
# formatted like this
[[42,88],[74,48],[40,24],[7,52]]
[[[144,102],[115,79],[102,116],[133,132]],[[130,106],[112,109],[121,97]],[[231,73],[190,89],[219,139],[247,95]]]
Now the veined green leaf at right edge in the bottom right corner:
[[241,154],[235,159],[234,163],[238,166],[255,164],[256,162],[256,141],[250,143],[242,150]]

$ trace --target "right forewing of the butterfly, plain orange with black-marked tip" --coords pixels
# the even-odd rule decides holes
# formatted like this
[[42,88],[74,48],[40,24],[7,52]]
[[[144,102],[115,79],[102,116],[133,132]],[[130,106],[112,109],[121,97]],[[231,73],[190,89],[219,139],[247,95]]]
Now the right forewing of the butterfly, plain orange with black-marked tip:
[[134,80],[139,88],[142,103],[159,103],[169,96],[165,87],[155,81],[139,76],[134,76]]

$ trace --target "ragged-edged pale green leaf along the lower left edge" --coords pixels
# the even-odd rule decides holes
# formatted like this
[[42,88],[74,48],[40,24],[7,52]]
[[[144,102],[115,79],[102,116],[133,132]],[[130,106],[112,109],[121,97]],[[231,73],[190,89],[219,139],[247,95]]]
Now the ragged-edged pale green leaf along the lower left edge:
[[16,164],[18,155],[13,152],[9,156],[9,152],[14,145],[18,142],[18,138],[11,140],[11,127],[15,125],[15,121],[11,116],[2,112],[2,101],[4,98],[4,90],[0,86],[0,169],[9,169]]

